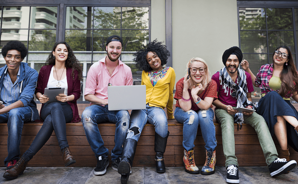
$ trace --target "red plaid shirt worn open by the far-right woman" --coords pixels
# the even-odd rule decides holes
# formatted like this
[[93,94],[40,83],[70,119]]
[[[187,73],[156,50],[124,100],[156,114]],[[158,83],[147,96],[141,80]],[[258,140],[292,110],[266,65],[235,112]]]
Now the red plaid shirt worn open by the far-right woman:
[[[270,91],[274,91],[269,86],[269,80],[273,76],[273,64],[266,64],[261,66],[259,69],[259,72],[257,73],[256,77],[256,84],[260,87],[261,93],[267,94]],[[297,91],[297,85],[295,85],[295,88],[292,91],[289,91],[284,98],[290,98],[293,95],[293,91]],[[278,92],[278,90],[275,90]]]

